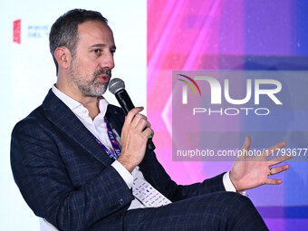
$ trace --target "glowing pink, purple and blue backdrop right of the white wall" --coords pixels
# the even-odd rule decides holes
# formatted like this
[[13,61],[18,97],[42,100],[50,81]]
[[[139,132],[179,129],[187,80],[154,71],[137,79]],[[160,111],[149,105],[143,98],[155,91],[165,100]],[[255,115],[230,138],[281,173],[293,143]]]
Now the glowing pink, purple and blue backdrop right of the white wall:
[[[172,71],[308,70],[307,12],[302,0],[148,0],[147,114],[158,159],[177,183],[202,181],[232,162],[172,161]],[[241,120],[232,126],[266,131]],[[270,230],[308,226],[308,162],[290,165],[283,185],[249,190]]]

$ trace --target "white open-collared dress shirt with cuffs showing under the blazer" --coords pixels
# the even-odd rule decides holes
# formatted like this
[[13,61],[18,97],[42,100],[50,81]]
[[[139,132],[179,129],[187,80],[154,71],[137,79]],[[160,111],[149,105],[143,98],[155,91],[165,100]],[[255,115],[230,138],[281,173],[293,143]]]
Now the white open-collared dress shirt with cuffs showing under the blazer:
[[[82,103],[79,101],[73,100],[71,97],[68,95],[64,94],[62,91],[58,90],[54,85],[53,85],[53,93],[61,100],[63,103],[68,106],[71,111],[77,116],[79,120],[81,120],[82,124],[91,131],[91,133],[98,139],[101,140],[101,143],[107,148],[110,149],[112,153],[114,153],[114,150],[111,145],[111,140],[109,139],[109,136],[107,134],[107,126],[104,120],[104,116],[107,111],[107,106],[108,106],[108,101],[106,101],[104,98],[101,98],[99,101],[99,109],[100,113],[94,118],[94,120],[91,120],[91,117],[89,116],[89,111],[87,108],[85,108]],[[116,139],[118,140],[120,144],[120,136],[117,133],[116,130],[112,130]],[[142,172],[140,171],[140,168],[137,166],[136,168],[133,169],[133,171],[130,174],[130,171],[128,171],[126,168],[124,168],[118,160],[115,160],[111,166],[115,168],[118,173],[120,174],[121,178],[125,181],[127,184],[128,188],[132,187],[133,180],[135,178],[144,178]],[[236,188],[233,186],[230,177],[229,177],[229,172],[226,172],[226,174],[223,177],[223,183],[226,188],[226,191],[236,191]],[[134,208],[141,208],[145,207],[143,204],[140,203],[139,200],[134,199],[131,204],[129,209],[134,209]]]

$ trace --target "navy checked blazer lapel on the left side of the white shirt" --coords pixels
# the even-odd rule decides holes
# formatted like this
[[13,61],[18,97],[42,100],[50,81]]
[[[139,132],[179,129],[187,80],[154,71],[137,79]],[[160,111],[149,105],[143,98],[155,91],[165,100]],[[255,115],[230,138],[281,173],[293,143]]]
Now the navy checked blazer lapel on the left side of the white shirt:
[[48,92],[43,101],[43,110],[46,111],[46,118],[69,136],[72,141],[78,143],[105,166],[111,165],[113,159],[101,148],[91,132],[84,127],[63,101],[53,94],[52,90]]

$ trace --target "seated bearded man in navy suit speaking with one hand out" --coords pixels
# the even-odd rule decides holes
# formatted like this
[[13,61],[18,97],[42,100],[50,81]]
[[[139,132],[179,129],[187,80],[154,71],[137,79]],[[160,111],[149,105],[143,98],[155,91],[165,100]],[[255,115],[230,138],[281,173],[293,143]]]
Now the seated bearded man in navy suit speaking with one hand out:
[[[63,14],[53,24],[50,50],[57,82],[12,134],[14,180],[36,216],[74,231],[267,229],[251,201],[235,191],[280,184],[268,176],[288,165],[269,167],[290,157],[236,161],[230,172],[179,186],[146,150],[153,130],[143,108],[124,117],[101,96],[116,50],[107,20],[80,9]],[[243,149],[249,146],[246,138]],[[147,204],[139,187],[155,191],[161,204]]]

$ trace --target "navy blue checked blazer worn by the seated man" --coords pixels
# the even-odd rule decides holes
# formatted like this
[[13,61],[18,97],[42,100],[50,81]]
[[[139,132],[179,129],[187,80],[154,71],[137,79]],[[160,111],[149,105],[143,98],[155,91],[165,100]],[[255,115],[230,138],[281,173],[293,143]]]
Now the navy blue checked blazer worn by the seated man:
[[[106,117],[120,134],[121,109],[109,105]],[[12,133],[14,180],[34,214],[60,230],[122,230],[134,197],[111,167],[113,161],[51,90]],[[139,166],[149,183],[171,201],[225,190],[222,174],[190,186],[177,185],[154,152],[146,153]]]

